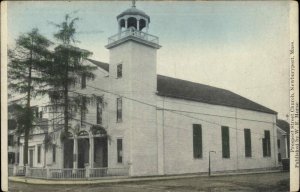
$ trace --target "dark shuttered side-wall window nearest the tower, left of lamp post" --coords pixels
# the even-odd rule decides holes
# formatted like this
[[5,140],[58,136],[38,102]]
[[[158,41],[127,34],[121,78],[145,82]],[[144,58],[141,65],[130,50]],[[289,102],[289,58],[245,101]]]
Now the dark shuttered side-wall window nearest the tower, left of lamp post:
[[193,149],[194,158],[202,158],[202,127],[199,124],[193,124]]

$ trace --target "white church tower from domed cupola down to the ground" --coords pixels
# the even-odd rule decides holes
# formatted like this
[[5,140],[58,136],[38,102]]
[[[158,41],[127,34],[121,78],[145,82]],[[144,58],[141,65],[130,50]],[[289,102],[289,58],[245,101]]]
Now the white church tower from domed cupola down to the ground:
[[[158,37],[149,34],[150,17],[136,8],[135,1],[117,16],[117,24],[118,32],[108,38],[106,48],[110,89],[122,100],[123,116],[117,122],[110,116],[111,132],[123,138],[123,158],[131,176],[155,175],[157,149],[149,146],[157,146],[156,108],[145,103],[156,104],[156,58],[161,46]],[[111,98],[111,111],[117,108],[115,99]]]

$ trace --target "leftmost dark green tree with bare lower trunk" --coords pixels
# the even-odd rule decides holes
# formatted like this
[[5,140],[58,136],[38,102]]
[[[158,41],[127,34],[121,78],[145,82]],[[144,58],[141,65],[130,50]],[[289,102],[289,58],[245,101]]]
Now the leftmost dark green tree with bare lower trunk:
[[[45,79],[41,75],[47,65],[52,62],[49,51],[51,45],[38,29],[21,35],[16,46],[8,51],[8,82],[9,91],[23,96],[25,106],[17,107],[19,115],[18,132],[24,134],[24,165],[28,164],[28,139],[32,129],[33,111],[31,99],[46,93]],[[25,95],[25,96],[24,96]]]

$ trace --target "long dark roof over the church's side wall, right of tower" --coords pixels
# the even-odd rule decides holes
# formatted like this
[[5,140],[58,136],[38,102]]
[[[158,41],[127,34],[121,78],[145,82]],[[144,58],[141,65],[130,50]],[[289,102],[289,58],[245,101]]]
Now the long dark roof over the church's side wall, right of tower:
[[162,75],[157,76],[157,92],[160,96],[277,114],[231,91]]

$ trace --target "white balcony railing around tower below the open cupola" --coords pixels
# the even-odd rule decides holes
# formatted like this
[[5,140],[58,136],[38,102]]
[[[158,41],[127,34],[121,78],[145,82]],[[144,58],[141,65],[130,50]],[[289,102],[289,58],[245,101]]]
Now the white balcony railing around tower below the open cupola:
[[154,35],[150,35],[148,33],[138,31],[136,29],[127,29],[125,31],[122,31],[116,35],[113,35],[108,38],[108,44],[114,43],[120,39],[123,39],[125,37],[136,37],[138,39],[146,40],[151,43],[159,44],[158,37]]

